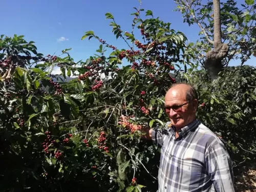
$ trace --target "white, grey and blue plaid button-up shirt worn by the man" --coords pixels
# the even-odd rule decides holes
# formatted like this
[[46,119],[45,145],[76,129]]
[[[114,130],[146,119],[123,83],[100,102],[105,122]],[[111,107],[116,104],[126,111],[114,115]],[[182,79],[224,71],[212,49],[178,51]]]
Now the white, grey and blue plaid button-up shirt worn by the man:
[[158,191],[234,191],[232,162],[223,142],[197,119],[178,133],[175,139],[170,122],[152,132],[161,147]]

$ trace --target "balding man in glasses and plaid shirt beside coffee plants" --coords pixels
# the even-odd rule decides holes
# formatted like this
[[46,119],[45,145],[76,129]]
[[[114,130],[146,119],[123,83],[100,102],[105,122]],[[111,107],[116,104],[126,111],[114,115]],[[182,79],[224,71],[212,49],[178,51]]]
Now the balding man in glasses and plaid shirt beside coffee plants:
[[198,96],[185,83],[165,95],[170,122],[165,129],[147,129],[147,138],[161,147],[159,192],[234,191],[232,163],[223,142],[196,117]]

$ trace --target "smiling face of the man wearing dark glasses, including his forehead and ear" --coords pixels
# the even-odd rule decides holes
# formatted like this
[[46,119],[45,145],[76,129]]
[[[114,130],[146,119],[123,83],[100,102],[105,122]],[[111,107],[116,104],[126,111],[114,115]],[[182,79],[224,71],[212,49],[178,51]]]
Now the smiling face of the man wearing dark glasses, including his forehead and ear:
[[197,100],[186,100],[187,89],[174,87],[165,95],[165,112],[177,129],[181,129],[196,117]]

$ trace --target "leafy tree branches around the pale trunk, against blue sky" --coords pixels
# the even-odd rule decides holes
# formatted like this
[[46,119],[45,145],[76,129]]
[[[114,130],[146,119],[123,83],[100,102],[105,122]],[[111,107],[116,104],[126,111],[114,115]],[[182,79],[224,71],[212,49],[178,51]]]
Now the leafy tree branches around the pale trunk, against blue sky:
[[[189,42],[188,51],[195,53],[194,62],[204,67],[205,53],[211,50],[214,40],[214,10],[212,1],[203,4],[202,0],[175,0],[177,11],[184,17],[183,22],[198,25],[200,39]],[[228,66],[232,59],[241,60],[243,65],[251,56],[256,56],[255,22],[256,4],[254,0],[220,1],[222,41],[228,44],[229,53],[222,60]]]

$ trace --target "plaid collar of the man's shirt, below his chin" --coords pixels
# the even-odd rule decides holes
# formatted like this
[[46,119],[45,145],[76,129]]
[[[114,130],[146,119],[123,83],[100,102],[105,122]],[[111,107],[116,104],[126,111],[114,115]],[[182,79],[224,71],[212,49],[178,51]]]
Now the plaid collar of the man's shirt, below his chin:
[[[179,131],[179,137],[177,139],[182,139],[185,138],[187,136],[187,134],[191,131],[194,131],[200,124],[201,122],[198,119],[195,119],[193,122],[189,123],[188,125],[182,127]],[[171,132],[176,132],[176,127],[174,125],[172,125],[171,123],[168,124],[168,127],[172,128],[169,131]]]

